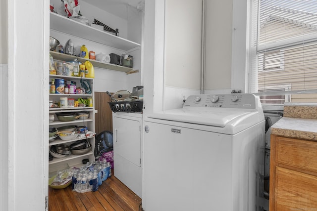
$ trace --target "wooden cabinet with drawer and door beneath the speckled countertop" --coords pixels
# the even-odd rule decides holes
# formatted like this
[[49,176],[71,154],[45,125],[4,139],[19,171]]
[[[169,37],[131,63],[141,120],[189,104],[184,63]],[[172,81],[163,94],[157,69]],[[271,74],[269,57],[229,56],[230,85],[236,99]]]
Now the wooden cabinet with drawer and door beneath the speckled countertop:
[[317,210],[317,141],[271,135],[269,211]]

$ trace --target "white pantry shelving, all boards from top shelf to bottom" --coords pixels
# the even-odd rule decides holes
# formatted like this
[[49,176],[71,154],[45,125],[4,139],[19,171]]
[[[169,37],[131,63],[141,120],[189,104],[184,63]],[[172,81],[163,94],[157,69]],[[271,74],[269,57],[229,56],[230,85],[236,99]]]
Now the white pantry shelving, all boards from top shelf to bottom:
[[[116,48],[120,51],[123,51],[125,53],[129,53],[135,49],[139,49],[141,44],[136,42],[131,42],[129,40],[123,39],[121,37],[112,35],[107,33],[106,31],[102,31],[96,28],[93,28],[91,26],[85,25],[83,23],[80,23],[78,21],[75,21],[71,18],[67,18],[64,16],[61,16],[59,14],[51,12],[50,14],[50,29],[53,31],[57,31],[63,34],[75,36],[84,40],[100,43],[107,45],[112,48]],[[90,60],[90,59],[84,59],[81,57],[77,57],[74,55],[68,55],[63,54],[55,51],[50,51],[51,55],[53,56],[54,60],[61,60],[61,61],[70,61],[74,60],[75,58],[78,59],[79,62],[84,63],[86,60],[89,60],[94,67],[103,68],[103,69],[109,69],[114,71],[121,71],[125,72],[127,74],[138,72],[138,70],[133,70],[132,68],[123,67],[120,65],[114,65],[109,63],[103,63],[96,60]],[[60,76],[60,75],[50,75],[50,81],[55,78],[63,78],[65,81],[75,81],[76,86],[80,85],[80,77],[72,77],[72,76]],[[60,97],[68,97],[68,98],[74,98],[75,100],[79,97],[81,98],[87,98],[92,97],[93,103],[95,103],[95,96],[94,96],[94,79],[85,78],[88,80],[91,84],[92,88],[92,94],[50,94],[50,100],[53,100],[54,102],[58,102]],[[78,85],[77,85],[78,84]],[[49,85],[49,84],[48,84]],[[90,117],[86,120],[75,120],[71,122],[61,122],[58,121],[57,116],[55,113],[61,113],[61,112],[77,112],[86,110],[89,111]],[[54,122],[50,123],[50,127],[62,127],[66,125],[75,125],[75,126],[85,126],[88,127],[88,130],[94,131],[95,130],[95,109],[94,107],[77,107],[77,108],[50,108],[50,114],[53,114],[55,117]],[[71,141],[62,141],[58,137],[55,138],[54,141],[49,142],[49,146],[53,146],[56,144],[66,144],[70,145],[74,141],[77,141],[80,139],[75,139]],[[89,142],[92,145],[92,150],[88,152],[85,155],[68,155],[64,158],[53,158],[53,161],[49,162],[49,171],[56,171],[59,168],[66,166],[79,166],[83,159],[88,158],[91,161],[95,160],[94,157],[94,148],[95,148],[95,137],[89,138]]]

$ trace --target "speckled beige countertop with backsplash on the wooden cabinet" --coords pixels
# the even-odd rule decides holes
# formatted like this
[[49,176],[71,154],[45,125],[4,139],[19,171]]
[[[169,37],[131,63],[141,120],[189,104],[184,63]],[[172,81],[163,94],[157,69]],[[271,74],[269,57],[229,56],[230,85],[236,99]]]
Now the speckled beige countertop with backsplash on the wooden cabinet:
[[284,106],[284,117],[271,126],[271,134],[317,140],[317,106]]

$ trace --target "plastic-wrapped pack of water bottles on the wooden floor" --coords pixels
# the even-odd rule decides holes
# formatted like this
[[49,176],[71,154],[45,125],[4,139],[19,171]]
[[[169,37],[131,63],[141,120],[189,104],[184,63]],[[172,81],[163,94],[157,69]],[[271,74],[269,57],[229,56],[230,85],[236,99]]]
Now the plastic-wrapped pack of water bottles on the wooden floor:
[[111,176],[111,165],[109,162],[98,161],[87,163],[86,166],[74,170],[72,176],[72,190],[85,193],[97,191],[108,177]]

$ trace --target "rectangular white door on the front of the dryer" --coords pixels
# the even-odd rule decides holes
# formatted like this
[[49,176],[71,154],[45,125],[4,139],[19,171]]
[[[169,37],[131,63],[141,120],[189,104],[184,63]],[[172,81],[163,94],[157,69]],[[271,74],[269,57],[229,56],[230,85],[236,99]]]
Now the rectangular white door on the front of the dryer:
[[113,117],[113,152],[141,167],[140,122]]

